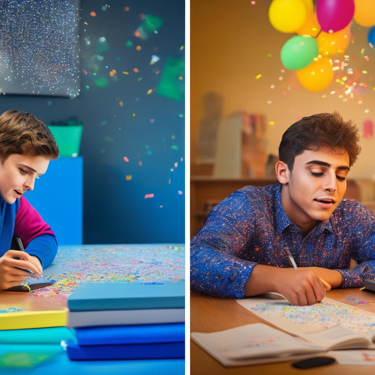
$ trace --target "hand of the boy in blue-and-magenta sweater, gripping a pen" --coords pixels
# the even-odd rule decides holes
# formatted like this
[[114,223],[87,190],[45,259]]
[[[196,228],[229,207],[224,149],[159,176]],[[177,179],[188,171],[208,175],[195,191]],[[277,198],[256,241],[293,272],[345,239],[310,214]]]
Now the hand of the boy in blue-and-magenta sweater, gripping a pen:
[[8,250],[0,258],[0,290],[22,284],[26,277],[30,276],[25,269],[38,276],[42,274],[42,265],[38,258],[25,251]]

